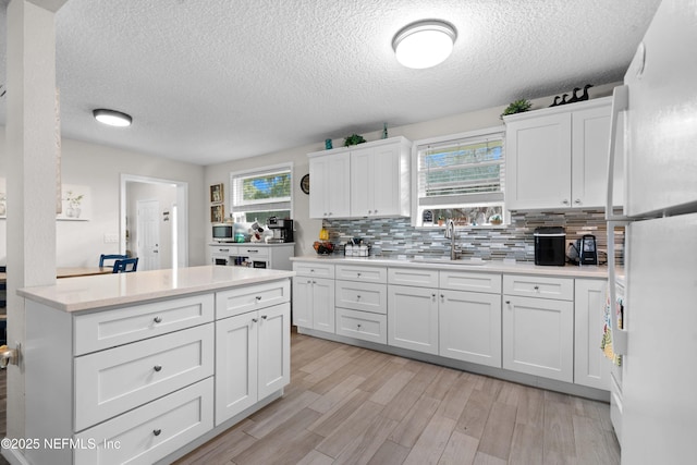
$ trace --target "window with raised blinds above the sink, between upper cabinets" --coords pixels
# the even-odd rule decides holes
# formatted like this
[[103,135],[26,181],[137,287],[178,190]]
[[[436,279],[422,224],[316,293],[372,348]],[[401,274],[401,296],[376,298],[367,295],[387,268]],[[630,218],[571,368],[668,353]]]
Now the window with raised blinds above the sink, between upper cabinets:
[[417,140],[414,225],[438,227],[504,222],[503,127]]

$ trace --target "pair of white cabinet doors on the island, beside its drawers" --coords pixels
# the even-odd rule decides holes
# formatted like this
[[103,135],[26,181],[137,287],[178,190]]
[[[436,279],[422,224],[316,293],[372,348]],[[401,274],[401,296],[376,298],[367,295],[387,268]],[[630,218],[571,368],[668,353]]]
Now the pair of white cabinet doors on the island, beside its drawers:
[[290,382],[290,304],[216,321],[216,426]]

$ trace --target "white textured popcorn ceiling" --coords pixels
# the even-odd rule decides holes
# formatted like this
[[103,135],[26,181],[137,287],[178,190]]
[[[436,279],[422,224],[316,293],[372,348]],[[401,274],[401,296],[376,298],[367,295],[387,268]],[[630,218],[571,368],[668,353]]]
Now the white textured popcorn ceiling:
[[[621,81],[659,2],[69,0],[63,136],[211,164]],[[392,37],[423,19],[456,27],[453,54],[403,68]],[[134,124],[99,125],[94,108]]]

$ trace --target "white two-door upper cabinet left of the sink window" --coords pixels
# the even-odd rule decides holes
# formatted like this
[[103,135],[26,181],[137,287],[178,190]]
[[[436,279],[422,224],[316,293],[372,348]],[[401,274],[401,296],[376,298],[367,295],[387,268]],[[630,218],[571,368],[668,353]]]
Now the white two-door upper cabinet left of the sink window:
[[408,217],[411,147],[392,137],[309,154],[310,218]]

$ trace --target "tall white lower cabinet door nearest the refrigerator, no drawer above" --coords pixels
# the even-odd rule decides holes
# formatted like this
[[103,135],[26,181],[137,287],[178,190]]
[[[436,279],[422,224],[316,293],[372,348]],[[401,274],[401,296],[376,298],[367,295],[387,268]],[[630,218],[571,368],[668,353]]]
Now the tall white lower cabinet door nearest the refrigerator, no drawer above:
[[610,390],[610,360],[600,350],[607,281],[576,280],[574,308],[574,382]]

